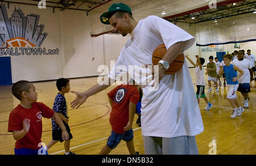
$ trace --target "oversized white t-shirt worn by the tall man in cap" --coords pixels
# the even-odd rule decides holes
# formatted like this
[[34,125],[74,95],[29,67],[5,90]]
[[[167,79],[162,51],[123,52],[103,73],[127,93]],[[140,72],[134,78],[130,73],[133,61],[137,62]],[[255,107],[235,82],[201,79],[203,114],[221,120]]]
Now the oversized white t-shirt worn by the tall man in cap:
[[[195,38],[158,16],[140,20],[131,33],[131,39],[123,46],[109,77],[114,79],[119,74],[114,69],[119,65],[128,69],[128,65],[152,64],[152,53],[158,45],[164,43],[168,49],[179,41],[188,41],[186,50]],[[177,73],[164,75],[157,91],[149,89],[150,86],[143,87],[142,135],[172,138],[193,136],[204,130],[186,60]]]

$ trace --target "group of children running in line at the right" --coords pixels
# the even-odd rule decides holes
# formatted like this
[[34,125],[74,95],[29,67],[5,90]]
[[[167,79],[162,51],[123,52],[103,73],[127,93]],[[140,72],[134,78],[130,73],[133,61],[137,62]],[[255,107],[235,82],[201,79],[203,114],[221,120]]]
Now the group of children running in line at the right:
[[[199,103],[200,98],[204,98],[207,103],[205,110],[209,110],[212,107],[212,104],[205,96],[204,68],[202,67],[205,59],[196,56],[197,60],[195,64],[188,56],[185,57],[196,67],[197,101]],[[244,112],[243,108],[249,107],[248,93],[250,92],[250,80],[253,80],[251,79],[252,73],[255,73],[255,57],[250,53],[250,50],[247,50],[246,55],[244,50],[239,50],[232,54],[225,54],[222,62],[218,62],[217,57],[214,58],[214,60],[216,63],[213,62],[213,56],[209,57],[209,62],[207,63],[206,68],[207,72],[205,73],[208,75],[208,92],[212,91],[211,81],[214,82],[214,86],[216,87],[215,92],[218,92],[217,79],[219,80],[219,86],[221,86],[220,78],[223,76],[224,86],[228,87],[228,95],[226,98],[233,107],[232,115],[230,117],[235,118],[241,116],[242,112]],[[237,99],[236,91],[240,91],[243,96],[243,108]]]

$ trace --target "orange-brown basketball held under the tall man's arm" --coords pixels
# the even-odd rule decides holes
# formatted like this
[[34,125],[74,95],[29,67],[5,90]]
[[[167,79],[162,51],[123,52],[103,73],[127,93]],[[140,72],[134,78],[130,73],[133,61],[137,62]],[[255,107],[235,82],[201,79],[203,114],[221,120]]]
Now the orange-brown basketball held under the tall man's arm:
[[[164,44],[160,44],[155,48],[152,54],[152,63],[153,65],[158,65],[158,62],[163,58],[164,54],[166,54],[167,49]],[[169,65],[169,68],[164,71],[164,74],[175,74],[179,71],[184,63],[184,54],[179,54],[177,58]]]

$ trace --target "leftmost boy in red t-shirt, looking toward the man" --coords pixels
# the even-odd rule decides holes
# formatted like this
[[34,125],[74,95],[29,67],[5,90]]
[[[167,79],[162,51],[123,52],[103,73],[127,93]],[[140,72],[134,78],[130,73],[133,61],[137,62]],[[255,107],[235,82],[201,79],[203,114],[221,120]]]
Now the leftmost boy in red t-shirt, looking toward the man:
[[68,140],[68,132],[59,115],[45,104],[36,102],[38,93],[31,82],[20,80],[11,90],[20,100],[20,104],[11,111],[8,123],[8,131],[16,140],[15,155],[47,154],[41,148],[42,117],[55,119],[61,127],[63,140]]

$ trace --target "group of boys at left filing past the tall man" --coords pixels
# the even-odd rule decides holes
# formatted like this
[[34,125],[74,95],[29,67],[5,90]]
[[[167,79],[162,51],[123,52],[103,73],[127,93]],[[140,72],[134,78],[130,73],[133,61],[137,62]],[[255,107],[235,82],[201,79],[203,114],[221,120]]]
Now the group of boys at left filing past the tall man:
[[[37,92],[34,84],[26,80],[16,82],[12,87],[13,95],[20,100],[9,116],[8,131],[16,140],[15,155],[48,154],[48,150],[57,142],[64,142],[65,154],[76,155],[69,150],[73,138],[68,125],[68,108],[65,93],[70,91],[69,79],[60,78],[56,82],[59,93],[55,97],[53,108],[36,102]],[[126,141],[131,155],[138,155],[133,144],[133,119],[138,114],[137,124],[141,126],[142,89],[139,86],[121,84],[108,93],[112,107],[110,125],[112,133],[106,145],[100,151],[101,155],[109,154],[121,141]],[[52,118],[52,140],[42,146],[42,117]]]

